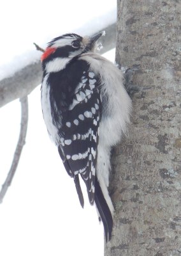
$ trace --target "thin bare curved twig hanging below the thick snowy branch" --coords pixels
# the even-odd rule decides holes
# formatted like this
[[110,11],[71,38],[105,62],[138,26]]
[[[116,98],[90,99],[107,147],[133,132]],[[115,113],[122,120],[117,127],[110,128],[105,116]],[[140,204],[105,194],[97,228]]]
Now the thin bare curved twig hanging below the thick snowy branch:
[[11,181],[15,175],[15,172],[17,170],[18,162],[20,160],[20,156],[22,153],[22,148],[25,145],[25,136],[27,132],[27,122],[28,122],[28,101],[27,96],[20,99],[21,103],[21,124],[20,124],[20,135],[18,138],[17,147],[15,150],[15,154],[13,157],[13,161],[11,164],[10,172],[8,173],[6,180],[1,188],[0,191],[0,204],[3,202],[3,198],[6,195],[6,192],[8,190],[8,187],[11,185]]

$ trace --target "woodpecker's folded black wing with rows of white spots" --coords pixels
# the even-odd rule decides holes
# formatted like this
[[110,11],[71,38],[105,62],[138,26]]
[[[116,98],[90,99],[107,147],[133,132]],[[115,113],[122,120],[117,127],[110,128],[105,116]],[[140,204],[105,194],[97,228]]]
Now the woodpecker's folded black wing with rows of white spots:
[[[77,67],[78,69],[76,69]],[[89,202],[94,204],[101,96],[99,76],[91,72],[89,65],[83,63],[81,66],[75,66],[74,69],[71,66],[70,72],[75,81],[69,81],[69,78],[64,79],[67,84],[61,86],[62,91],[60,92],[64,99],[60,102],[60,97],[54,94],[55,99],[57,97],[56,105],[62,115],[62,125],[59,130],[61,137],[59,154],[66,171],[74,178],[80,204],[83,207],[79,174],[87,186]],[[79,80],[78,75],[80,76]],[[73,90],[71,91],[70,88]],[[67,102],[69,102],[68,105]]]

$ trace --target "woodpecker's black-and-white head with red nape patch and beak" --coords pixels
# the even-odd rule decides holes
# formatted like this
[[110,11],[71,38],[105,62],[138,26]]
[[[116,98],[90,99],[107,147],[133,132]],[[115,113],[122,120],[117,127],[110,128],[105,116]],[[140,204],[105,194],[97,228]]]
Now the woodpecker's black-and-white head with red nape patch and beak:
[[96,33],[91,37],[66,34],[54,38],[48,43],[47,49],[41,56],[43,70],[57,72],[62,70],[76,56],[84,52],[95,51],[96,42],[104,32]]

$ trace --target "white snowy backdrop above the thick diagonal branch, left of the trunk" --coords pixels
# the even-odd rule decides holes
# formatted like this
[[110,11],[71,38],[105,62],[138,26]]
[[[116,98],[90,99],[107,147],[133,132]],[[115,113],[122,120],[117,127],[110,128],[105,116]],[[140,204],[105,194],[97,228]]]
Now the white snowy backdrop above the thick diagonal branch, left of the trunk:
[[116,1],[91,0],[89,4],[83,0],[9,0],[3,3],[0,15],[1,24],[4,21],[0,80],[40,60],[41,53],[36,51],[33,42],[45,48],[52,38],[64,33],[91,35],[115,22]]

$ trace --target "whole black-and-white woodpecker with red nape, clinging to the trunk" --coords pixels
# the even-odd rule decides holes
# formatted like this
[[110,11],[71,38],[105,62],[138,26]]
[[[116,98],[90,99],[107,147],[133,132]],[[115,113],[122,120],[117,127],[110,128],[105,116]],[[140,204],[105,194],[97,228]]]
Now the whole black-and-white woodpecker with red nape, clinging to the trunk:
[[131,100],[122,74],[96,49],[92,38],[66,34],[54,38],[41,57],[41,104],[50,138],[73,177],[83,207],[79,176],[96,203],[110,239],[113,205],[108,195],[110,150],[126,132]]

